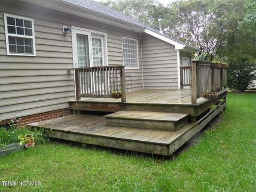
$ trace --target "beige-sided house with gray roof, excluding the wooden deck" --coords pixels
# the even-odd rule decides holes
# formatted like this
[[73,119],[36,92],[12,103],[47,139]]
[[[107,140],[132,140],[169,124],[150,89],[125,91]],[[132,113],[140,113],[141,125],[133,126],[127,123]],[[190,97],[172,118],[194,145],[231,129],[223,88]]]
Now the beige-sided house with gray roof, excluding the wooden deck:
[[77,67],[124,65],[133,91],[178,89],[179,67],[198,50],[91,0],[0,5],[2,120],[13,113],[33,121],[70,113]]

